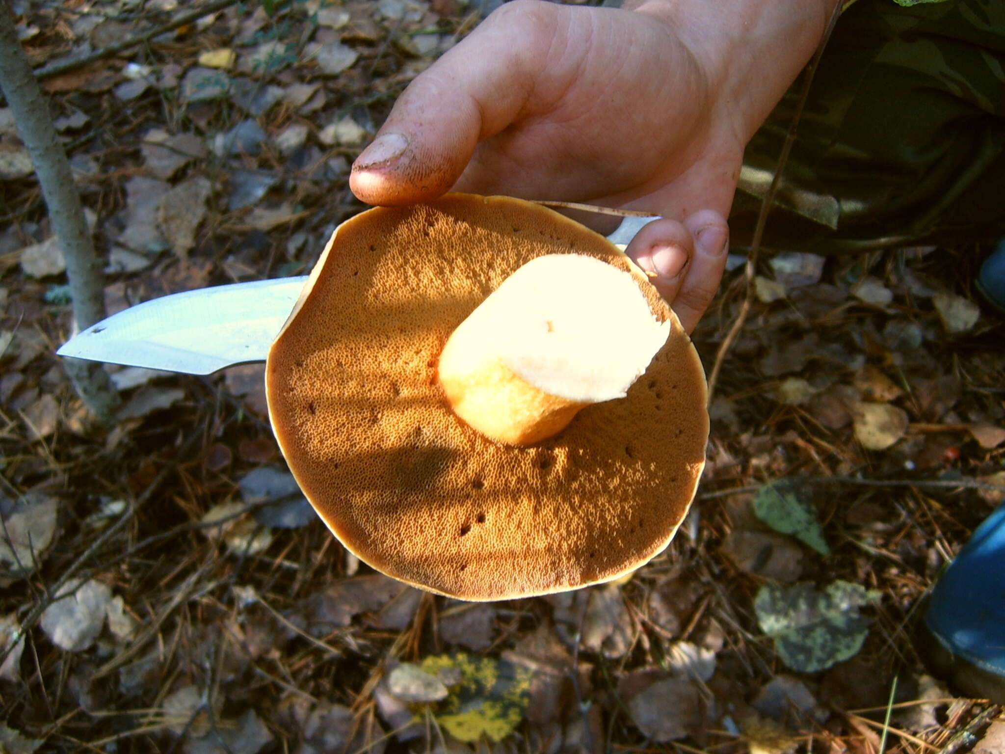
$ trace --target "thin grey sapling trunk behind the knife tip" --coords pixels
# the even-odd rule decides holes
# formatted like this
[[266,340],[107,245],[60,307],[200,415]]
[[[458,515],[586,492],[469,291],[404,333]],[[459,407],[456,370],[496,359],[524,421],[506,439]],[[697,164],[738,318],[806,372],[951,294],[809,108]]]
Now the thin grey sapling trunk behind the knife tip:
[[[80,330],[105,319],[103,261],[94,252],[90,230],[66,153],[56,135],[48,102],[42,96],[17,38],[6,3],[0,2],[0,89],[14,114],[24,146],[31,156],[49,221],[66,260],[73,301],[73,319]],[[66,372],[88,409],[111,423],[118,394],[99,364],[64,360]]]

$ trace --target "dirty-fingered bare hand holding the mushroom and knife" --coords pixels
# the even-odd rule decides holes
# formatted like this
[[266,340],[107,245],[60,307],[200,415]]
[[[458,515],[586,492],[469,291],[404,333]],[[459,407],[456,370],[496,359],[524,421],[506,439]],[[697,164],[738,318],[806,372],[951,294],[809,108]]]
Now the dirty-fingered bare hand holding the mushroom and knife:
[[[759,13],[768,4],[731,2]],[[749,14],[691,5],[711,7],[712,18],[675,16],[686,0],[635,11],[504,5],[402,93],[353,166],[353,191],[385,205],[452,188],[659,214],[666,219],[643,228],[628,253],[656,273],[689,332],[723,274],[725,217],[751,123],[805,61],[780,66],[791,68],[781,84],[752,81]],[[741,37],[730,25],[738,23]]]

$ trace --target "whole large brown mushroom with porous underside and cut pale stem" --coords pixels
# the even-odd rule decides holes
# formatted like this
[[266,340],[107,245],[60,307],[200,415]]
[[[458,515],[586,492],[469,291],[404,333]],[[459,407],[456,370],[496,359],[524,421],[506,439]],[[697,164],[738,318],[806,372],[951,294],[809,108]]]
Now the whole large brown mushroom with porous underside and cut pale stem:
[[340,225],[272,344],[266,392],[343,545],[459,599],[635,570],[705,466],[705,373],[676,316],[606,238],[509,197]]

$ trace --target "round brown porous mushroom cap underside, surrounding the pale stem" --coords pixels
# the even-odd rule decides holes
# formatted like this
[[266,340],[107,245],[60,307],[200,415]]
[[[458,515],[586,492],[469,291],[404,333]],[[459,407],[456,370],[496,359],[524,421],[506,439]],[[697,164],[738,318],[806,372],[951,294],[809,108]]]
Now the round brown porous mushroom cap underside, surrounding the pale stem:
[[[453,330],[533,258],[629,271],[670,335],[625,398],[515,447],[436,379]],[[618,578],[661,552],[705,466],[705,372],[676,316],[603,236],[541,205],[448,194],[379,207],[329,240],[266,365],[272,428],[308,500],[365,563],[467,600]]]

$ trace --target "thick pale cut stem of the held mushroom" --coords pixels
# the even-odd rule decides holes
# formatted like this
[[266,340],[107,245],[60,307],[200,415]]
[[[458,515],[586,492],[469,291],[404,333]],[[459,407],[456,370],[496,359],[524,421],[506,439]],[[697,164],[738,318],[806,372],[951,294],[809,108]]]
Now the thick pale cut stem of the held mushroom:
[[624,397],[670,332],[646,285],[581,254],[528,262],[443,347],[438,379],[450,407],[490,439],[529,445],[583,407]]

